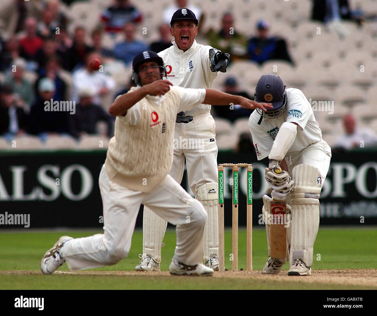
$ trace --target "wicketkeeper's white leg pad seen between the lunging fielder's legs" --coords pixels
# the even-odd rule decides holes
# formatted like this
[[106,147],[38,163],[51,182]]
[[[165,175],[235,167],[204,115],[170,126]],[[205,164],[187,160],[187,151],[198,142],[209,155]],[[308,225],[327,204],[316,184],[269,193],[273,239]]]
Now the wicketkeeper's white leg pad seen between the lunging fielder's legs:
[[143,255],[161,262],[162,240],[166,232],[167,221],[144,206],[143,212]]

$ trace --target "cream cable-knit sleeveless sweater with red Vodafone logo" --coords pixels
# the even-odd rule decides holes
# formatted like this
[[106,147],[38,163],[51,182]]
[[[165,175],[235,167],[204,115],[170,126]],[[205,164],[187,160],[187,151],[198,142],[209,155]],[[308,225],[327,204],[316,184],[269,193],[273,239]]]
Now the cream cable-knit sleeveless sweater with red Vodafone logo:
[[[133,88],[132,90],[134,90]],[[127,189],[152,192],[169,174],[179,92],[170,89],[158,106],[148,97],[139,101],[141,120],[130,126],[116,117],[105,169],[111,181]]]

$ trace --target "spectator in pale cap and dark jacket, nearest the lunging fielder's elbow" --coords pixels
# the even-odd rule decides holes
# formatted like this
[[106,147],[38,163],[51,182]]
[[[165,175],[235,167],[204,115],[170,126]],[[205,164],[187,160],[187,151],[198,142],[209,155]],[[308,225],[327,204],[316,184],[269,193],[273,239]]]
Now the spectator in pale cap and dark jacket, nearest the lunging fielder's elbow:
[[78,91],[80,103],[76,106],[76,113],[71,115],[72,135],[79,138],[85,134],[98,134],[97,123],[107,123],[107,137],[113,136],[113,117],[98,104],[93,103],[94,91],[90,87],[82,87]]

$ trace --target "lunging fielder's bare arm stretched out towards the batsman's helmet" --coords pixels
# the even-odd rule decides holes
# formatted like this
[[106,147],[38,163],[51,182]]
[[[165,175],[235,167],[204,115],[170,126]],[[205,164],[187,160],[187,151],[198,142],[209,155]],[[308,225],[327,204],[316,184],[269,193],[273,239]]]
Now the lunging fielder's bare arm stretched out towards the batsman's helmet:
[[262,109],[264,111],[272,108],[270,103],[258,103],[251,101],[247,98],[240,97],[239,95],[227,94],[224,92],[217,91],[215,89],[205,89],[205,99],[204,104],[214,104],[214,105],[230,105],[240,104],[245,109]]

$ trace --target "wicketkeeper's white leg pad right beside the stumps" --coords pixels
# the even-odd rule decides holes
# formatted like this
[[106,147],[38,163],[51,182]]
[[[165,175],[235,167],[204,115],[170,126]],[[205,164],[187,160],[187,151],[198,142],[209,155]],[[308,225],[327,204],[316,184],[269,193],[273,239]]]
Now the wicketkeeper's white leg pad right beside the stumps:
[[218,184],[208,182],[198,189],[195,197],[208,213],[208,222],[204,227],[203,260],[208,260],[210,254],[219,255],[219,218],[218,218]]

